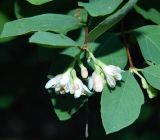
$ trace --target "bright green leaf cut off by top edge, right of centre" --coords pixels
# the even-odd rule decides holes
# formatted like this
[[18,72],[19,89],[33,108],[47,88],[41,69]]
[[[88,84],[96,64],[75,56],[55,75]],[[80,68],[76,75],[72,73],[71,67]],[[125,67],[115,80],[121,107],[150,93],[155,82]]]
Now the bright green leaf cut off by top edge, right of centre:
[[104,16],[111,14],[122,3],[123,0],[90,0],[89,3],[79,2],[91,16]]

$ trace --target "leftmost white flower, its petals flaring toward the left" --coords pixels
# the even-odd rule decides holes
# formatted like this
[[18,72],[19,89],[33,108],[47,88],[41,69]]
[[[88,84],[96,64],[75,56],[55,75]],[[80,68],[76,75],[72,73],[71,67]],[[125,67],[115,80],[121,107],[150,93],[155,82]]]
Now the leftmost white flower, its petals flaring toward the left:
[[69,84],[70,84],[70,73],[65,72],[64,74],[59,74],[49,80],[45,88],[54,88],[55,92],[59,92],[60,94],[65,94],[69,92]]

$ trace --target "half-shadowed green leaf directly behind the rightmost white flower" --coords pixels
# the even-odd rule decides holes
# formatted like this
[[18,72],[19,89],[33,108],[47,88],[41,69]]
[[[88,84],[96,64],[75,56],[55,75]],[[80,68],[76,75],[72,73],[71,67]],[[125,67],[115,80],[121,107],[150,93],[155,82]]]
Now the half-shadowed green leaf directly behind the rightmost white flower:
[[121,68],[125,67],[127,64],[126,50],[116,35],[106,33],[96,40],[96,42],[98,42],[96,47],[91,47],[95,48],[94,55],[98,59],[109,65],[117,65]]

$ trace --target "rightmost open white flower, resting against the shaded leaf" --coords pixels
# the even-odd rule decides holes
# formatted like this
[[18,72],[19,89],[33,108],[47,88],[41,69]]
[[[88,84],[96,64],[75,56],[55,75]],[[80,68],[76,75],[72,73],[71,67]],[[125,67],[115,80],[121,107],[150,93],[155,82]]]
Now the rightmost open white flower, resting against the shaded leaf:
[[122,80],[121,73],[123,72],[123,70],[121,70],[121,68],[114,65],[103,65],[102,69],[104,71],[107,83],[111,88],[114,88],[116,86],[117,80]]

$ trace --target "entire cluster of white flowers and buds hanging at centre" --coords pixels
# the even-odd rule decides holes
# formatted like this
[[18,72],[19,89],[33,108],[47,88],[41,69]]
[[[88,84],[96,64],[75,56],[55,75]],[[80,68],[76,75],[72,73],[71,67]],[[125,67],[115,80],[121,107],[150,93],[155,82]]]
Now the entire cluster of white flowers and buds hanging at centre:
[[116,82],[122,79],[121,70],[114,65],[106,65],[103,62],[96,59],[92,53],[89,53],[94,62],[95,70],[88,78],[88,70],[79,59],[79,66],[81,69],[82,78],[88,78],[88,87],[77,77],[74,65],[69,67],[68,70],[62,74],[50,79],[45,88],[54,88],[55,92],[60,94],[70,93],[75,98],[79,98],[81,95],[91,94],[91,91],[102,92],[104,85],[107,83],[109,87],[114,88]]

